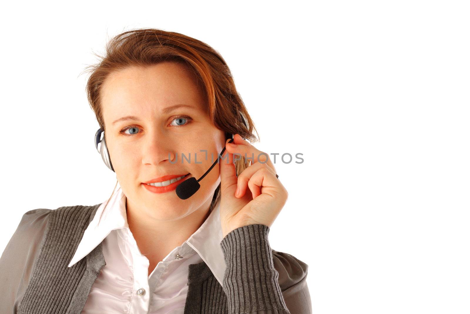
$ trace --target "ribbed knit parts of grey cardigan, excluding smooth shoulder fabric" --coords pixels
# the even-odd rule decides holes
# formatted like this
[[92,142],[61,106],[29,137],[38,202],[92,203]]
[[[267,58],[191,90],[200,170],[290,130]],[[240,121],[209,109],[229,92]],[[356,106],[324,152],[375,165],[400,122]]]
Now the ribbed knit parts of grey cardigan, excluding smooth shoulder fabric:
[[[94,281],[106,265],[102,244],[74,266],[67,265],[100,205],[50,211],[18,313],[81,313]],[[227,265],[223,286],[204,262],[189,265],[184,313],[290,313],[278,284],[268,233],[268,226],[256,224],[227,234],[220,243]]]

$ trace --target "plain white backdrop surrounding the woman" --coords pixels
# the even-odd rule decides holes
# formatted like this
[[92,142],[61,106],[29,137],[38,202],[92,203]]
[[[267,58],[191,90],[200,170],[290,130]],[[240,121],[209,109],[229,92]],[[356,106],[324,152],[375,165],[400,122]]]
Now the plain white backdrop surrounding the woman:
[[[8,1],[0,19],[3,251],[24,212],[106,201],[93,52],[154,27],[227,61],[289,200],[274,250],[313,312],[469,313],[466,1]],[[5,270],[1,270],[5,271]]]

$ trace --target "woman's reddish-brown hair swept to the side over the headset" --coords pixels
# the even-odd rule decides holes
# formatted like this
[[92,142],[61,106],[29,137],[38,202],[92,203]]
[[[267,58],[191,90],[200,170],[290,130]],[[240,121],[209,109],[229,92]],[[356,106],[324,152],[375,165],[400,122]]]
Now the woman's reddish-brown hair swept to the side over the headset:
[[[222,56],[206,43],[178,32],[154,28],[136,29],[112,38],[106,45],[105,56],[94,55],[100,61],[86,67],[85,72],[91,72],[86,93],[103,131],[106,130],[100,91],[110,73],[131,66],[145,67],[173,61],[186,65],[196,74],[197,84],[203,88],[207,101],[207,113],[218,129],[231,134],[238,133],[251,142],[258,141],[252,133],[256,131],[254,123],[236,91],[230,69]],[[240,113],[243,114],[247,127],[243,124]],[[258,131],[256,133],[258,135]],[[237,174],[247,167],[244,158],[235,162]],[[219,199],[220,185],[215,190],[210,211]]]

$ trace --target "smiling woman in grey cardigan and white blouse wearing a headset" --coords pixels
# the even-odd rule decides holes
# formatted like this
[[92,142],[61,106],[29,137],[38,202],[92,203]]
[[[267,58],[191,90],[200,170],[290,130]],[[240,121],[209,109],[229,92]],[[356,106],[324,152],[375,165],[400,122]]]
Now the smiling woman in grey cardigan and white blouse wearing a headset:
[[224,59],[141,29],[89,70],[96,144],[103,131],[118,188],[97,205],[24,214],[0,259],[1,313],[311,313],[308,266],[269,245],[288,194],[246,140],[255,128]]

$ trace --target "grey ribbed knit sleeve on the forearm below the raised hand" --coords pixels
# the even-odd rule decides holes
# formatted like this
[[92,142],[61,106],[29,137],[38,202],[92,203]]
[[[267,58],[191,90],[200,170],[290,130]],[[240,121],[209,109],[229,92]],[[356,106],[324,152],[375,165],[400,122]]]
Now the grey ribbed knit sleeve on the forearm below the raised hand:
[[267,225],[245,225],[220,242],[225,264],[222,288],[228,313],[290,313],[279,287]]

